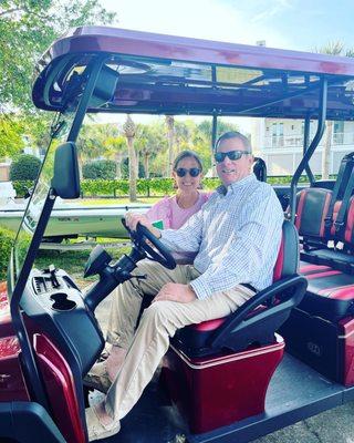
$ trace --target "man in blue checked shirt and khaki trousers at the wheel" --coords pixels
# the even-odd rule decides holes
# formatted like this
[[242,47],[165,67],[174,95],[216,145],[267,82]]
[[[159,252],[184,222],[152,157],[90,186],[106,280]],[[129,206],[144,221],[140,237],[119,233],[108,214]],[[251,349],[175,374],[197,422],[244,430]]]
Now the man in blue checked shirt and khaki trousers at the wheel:
[[[104,402],[86,412],[91,441],[118,432],[119,420],[139,399],[177,329],[226,317],[272,282],[283,223],[277,195],[251,173],[251,145],[242,134],[221,135],[215,158],[222,186],[180,229],[160,231],[144,215],[126,217],[131,229],[140,223],[171,250],[197,256],[194,265],[174,270],[143,260],[133,274],[147,279],[133,278],[117,288],[108,331],[112,351],[93,370],[103,389],[114,381]],[[144,295],[155,298],[135,331]]]

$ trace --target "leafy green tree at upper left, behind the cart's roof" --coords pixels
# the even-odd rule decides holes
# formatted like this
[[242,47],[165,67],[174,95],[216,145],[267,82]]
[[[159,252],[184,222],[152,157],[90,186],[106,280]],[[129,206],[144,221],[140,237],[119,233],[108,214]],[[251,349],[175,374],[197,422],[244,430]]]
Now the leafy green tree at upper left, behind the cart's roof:
[[[0,2],[0,124],[9,140],[21,141],[24,133],[24,125],[19,125],[19,112],[25,121],[27,134],[32,131],[35,134],[39,121],[46,123],[50,119],[38,112],[31,102],[33,68],[45,49],[63,30],[82,24],[112,23],[114,19],[115,13],[107,12],[100,0]],[[41,137],[35,135],[34,140],[40,142]],[[4,154],[13,155],[22,145],[10,143]]]

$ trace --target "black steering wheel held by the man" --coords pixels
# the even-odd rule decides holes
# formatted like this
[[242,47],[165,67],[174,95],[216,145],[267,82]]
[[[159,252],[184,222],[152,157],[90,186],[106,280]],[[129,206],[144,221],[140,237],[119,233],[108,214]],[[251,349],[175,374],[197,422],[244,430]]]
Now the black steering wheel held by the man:
[[[129,233],[133,244],[139,250],[144,250],[148,259],[159,262],[167,269],[176,268],[176,260],[174,259],[169,249],[157,237],[155,237],[154,234],[147,229],[147,227],[138,223],[136,230],[132,230],[126,225],[124,218],[122,218],[122,224]],[[155,249],[150,245],[153,245]]]

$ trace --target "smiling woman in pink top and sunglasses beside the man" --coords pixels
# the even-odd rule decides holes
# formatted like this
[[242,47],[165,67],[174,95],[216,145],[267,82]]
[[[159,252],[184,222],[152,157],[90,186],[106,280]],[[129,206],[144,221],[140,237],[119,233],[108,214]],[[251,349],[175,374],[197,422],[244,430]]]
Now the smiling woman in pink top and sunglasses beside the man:
[[[150,222],[162,222],[164,229],[178,229],[191,215],[201,208],[210,196],[210,193],[201,193],[199,190],[201,187],[202,165],[195,152],[183,151],[177,155],[174,162],[173,177],[177,188],[176,195],[157,202],[146,214]],[[175,258],[180,259],[180,257]],[[116,319],[121,311],[119,305],[128,306],[129,302],[131,300],[124,300],[124,296],[118,290],[115,290],[107,330],[107,342],[112,344],[110,356],[106,361],[94,364],[85,377],[85,384],[104,392],[107,391],[112,380],[115,379],[126,354],[126,349],[116,346],[118,340]],[[126,309],[123,311],[126,311]],[[129,323],[133,327],[132,321]]]

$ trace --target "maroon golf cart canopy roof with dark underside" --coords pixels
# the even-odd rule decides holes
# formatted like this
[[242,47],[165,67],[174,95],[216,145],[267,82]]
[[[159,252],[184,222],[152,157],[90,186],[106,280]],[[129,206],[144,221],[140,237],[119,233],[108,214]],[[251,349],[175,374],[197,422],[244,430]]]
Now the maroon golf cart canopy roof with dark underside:
[[88,112],[354,119],[354,59],[84,27],[55,41],[37,66],[34,104],[77,103],[93,60],[104,61]]

